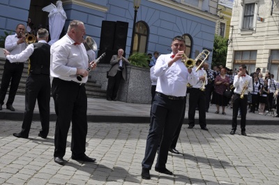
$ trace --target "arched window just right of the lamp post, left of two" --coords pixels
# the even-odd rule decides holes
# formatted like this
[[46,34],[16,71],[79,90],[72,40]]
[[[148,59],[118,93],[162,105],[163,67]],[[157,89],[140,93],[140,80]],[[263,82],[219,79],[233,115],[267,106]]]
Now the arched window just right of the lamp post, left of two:
[[137,22],[135,24],[133,52],[146,53],[148,36],[148,25],[143,21]]

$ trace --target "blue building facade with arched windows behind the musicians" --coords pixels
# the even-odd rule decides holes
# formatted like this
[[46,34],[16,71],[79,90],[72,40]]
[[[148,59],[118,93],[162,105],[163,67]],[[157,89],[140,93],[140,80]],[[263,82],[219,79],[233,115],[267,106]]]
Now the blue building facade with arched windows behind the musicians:
[[[67,15],[63,33],[66,33],[70,20],[81,20],[85,24],[86,34],[92,36],[98,46],[103,42],[101,39],[103,21],[127,23],[127,34],[119,37],[125,37],[123,49],[128,57],[135,15],[133,0],[62,2]],[[42,8],[50,3],[55,4],[56,1],[1,1],[0,35],[3,36],[3,31],[15,31],[19,23],[26,24],[28,17],[37,29],[40,26],[47,28],[48,13],[43,12]],[[179,35],[186,38],[188,45],[186,54],[194,58],[204,49],[212,51],[216,20],[218,20],[217,0],[142,0],[137,10],[133,52],[169,53],[171,39]],[[118,32],[123,33],[121,29]],[[105,38],[103,37],[103,40]],[[116,49],[118,48],[112,48],[112,52]],[[209,64],[211,56],[212,53]]]

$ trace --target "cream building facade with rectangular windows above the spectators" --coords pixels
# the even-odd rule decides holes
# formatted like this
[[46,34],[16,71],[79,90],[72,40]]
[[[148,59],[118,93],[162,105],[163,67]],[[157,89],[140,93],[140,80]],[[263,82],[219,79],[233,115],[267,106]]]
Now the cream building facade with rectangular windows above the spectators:
[[278,0],[234,1],[227,67],[246,64],[249,73],[261,68],[279,79]]

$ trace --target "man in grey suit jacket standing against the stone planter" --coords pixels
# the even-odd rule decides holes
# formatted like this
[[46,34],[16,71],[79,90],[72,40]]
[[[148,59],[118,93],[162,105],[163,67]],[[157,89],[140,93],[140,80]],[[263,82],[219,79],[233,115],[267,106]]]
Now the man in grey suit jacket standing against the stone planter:
[[128,59],[123,57],[124,50],[119,49],[117,55],[113,55],[110,60],[112,68],[109,72],[107,82],[107,101],[116,101],[117,91],[120,86],[121,78],[126,80],[126,66],[129,65]]

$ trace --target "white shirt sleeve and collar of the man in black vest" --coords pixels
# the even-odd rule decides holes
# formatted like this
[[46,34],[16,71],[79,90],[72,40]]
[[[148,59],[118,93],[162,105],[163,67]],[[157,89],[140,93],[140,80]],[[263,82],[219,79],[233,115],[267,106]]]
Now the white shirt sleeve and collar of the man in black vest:
[[[45,40],[39,40],[38,43],[47,43]],[[7,55],[6,59],[10,61],[10,63],[13,62],[24,62],[29,59],[31,54],[34,52],[34,45],[28,45],[25,50],[23,50],[20,54],[15,54],[15,55]]]

